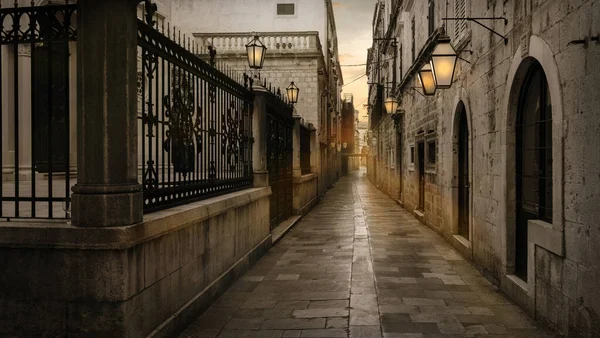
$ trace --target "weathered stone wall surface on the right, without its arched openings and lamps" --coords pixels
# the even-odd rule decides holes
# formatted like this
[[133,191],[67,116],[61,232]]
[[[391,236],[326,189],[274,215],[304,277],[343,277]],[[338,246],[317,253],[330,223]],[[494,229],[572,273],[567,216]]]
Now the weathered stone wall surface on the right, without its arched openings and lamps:
[[[414,2],[403,20],[416,16],[416,49],[427,39],[426,2]],[[416,144],[419,132],[429,132],[437,142],[437,163],[426,170],[424,222],[444,235],[471,258],[485,275],[498,284],[533,316],[569,336],[600,336],[600,115],[597,114],[600,45],[571,44],[600,32],[600,1],[467,1],[471,17],[501,17],[485,22],[506,35],[508,44],[475,23],[467,34],[447,31],[469,63],[458,61],[451,89],[435,96],[401,93],[402,177],[405,208],[418,204]],[[450,14],[453,1],[450,2]],[[436,26],[445,6],[436,8]],[[451,15],[450,15],[451,16]],[[404,22],[403,69],[411,67],[410,21]],[[515,271],[515,121],[518,97],[533,61],[546,75],[552,105],[553,217],[552,224],[529,223],[527,280]],[[408,82],[409,86],[413,82]],[[418,82],[414,82],[418,85]],[[405,88],[411,91],[409,88]],[[458,114],[466,109],[469,129],[470,238],[460,238],[458,205]],[[388,121],[387,123],[385,121]],[[389,130],[384,117],[373,130]],[[410,147],[415,145],[415,163]],[[369,169],[373,169],[370,161]],[[384,164],[377,163],[377,184],[389,189]],[[399,177],[394,176],[398,181]],[[387,191],[390,193],[390,191]],[[433,214],[433,215],[431,215]]]

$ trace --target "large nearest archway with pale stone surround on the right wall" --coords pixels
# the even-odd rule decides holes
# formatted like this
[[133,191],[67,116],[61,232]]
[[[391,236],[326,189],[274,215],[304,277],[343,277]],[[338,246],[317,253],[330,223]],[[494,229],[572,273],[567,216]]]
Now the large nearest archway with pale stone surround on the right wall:
[[[543,77],[542,77],[543,75]],[[537,79],[537,80],[536,80]],[[545,79],[545,81],[543,81]],[[532,81],[538,81],[535,89],[535,92],[527,92],[530,90],[530,85]],[[542,81],[540,83],[539,81]],[[500,224],[502,224],[502,268],[503,273],[506,278],[503,278],[503,283],[508,283],[507,285],[518,286],[517,288],[506,286],[503,287],[503,290],[514,290],[510,291],[511,298],[516,300],[521,305],[529,308],[532,303],[529,303],[535,298],[535,278],[534,278],[534,269],[535,269],[535,247],[536,246],[544,246],[548,250],[552,252],[556,252],[561,254],[564,250],[562,246],[559,244],[563,242],[557,236],[564,236],[564,221],[563,221],[563,190],[564,190],[564,176],[563,176],[563,107],[562,107],[562,90],[560,85],[560,74],[558,71],[558,66],[556,64],[556,60],[554,59],[554,54],[550,49],[549,45],[540,37],[532,35],[527,43],[523,42],[519,48],[516,50],[516,53],[513,57],[512,64],[508,73],[507,79],[507,88],[505,91],[504,99],[503,99],[503,112],[502,112],[502,129],[501,129],[501,144],[502,144],[502,172],[501,179],[505,182],[505,188],[503,189],[503,203],[501,203],[501,210],[499,213],[500,216]],[[539,87],[546,88],[539,88]],[[542,90],[543,89],[543,90]],[[538,92],[545,91],[544,97],[538,97]],[[527,93],[525,93],[527,92]],[[531,105],[534,108],[526,107],[526,104],[523,102],[523,97],[533,97],[531,100],[536,102]],[[535,99],[537,97],[537,100]],[[547,140],[547,142],[541,142],[541,136],[538,134],[537,136],[533,136],[534,140],[537,140],[537,143],[532,143],[533,141],[528,139],[523,139],[523,128],[525,128],[531,120],[522,120],[521,117],[530,117],[533,120],[536,120],[536,111],[539,107],[539,100],[543,100],[543,104],[547,104],[548,108],[544,114],[547,114],[546,120],[551,120],[550,126],[554,126],[551,128],[552,137]],[[550,109],[551,107],[551,109]],[[526,111],[533,110],[532,116],[529,116]],[[538,122],[543,120],[537,119]],[[525,122],[523,122],[525,121]],[[518,136],[519,131],[521,132],[521,136]],[[539,132],[539,130],[538,130]],[[549,133],[546,131],[546,136]],[[519,142],[522,143],[519,147],[517,137],[521,138]],[[522,183],[521,186],[517,189],[517,180],[523,179],[523,176],[528,176],[531,171],[523,171],[523,163],[520,163],[519,166],[521,169],[520,172],[517,172],[517,161],[519,159],[523,159],[524,154],[518,154],[517,150],[520,148],[521,152],[523,150],[527,150],[526,147],[532,145],[536,147],[535,149],[531,149],[534,152],[540,152],[541,147],[548,148],[548,152],[551,154],[551,163],[546,163],[544,169],[545,172],[543,182],[546,182],[546,178],[548,179],[547,184],[550,185],[552,189],[552,198],[549,201],[544,201],[546,205],[549,205],[551,209],[548,210],[551,215],[550,218],[540,219],[539,214],[539,199],[538,204],[536,205],[524,205],[527,204],[527,200],[523,201],[522,198],[525,196],[524,194],[531,193],[537,186],[541,183],[537,183],[532,189],[523,191]],[[536,145],[537,144],[537,145]],[[541,146],[540,146],[541,145]],[[550,159],[549,156],[546,159]],[[538,160],[539,162],[539,160]],[[539,163],[538,163],[539,164]],[[539,170],[540,167],[537,167]],[[529,180],[540,179],[538,177],[530,177]],[[546,177],[547,176],[547,177]],[[549,188],[549,187],[548,187]],[[546,188],[546,190],[548,190]],[[517,190],[521,190],[517,193]],[[539,195],[539,193],[538,193]],[[526,215],[523,215],[523,207],[529,208],[528,210],[538,210],[537,216],[535,217],[535,224],[544,224],[543,226],[536,225],[536,232],[538,236],[534,238],[530,238],[528,235],[524,235],[530,229],[525,229],[521,227],[520,229],[517,226],[517,223],[525,222],[528,224],[528,227],[531,226],[531,222],[526,222]],[[545,206],[544,206],[545,208]],[[549,223],[548,220],[551,220],[552,223]],[[519,238],[517,238],[517,231],[521,231],[519,234]],[[540,234],[544,234],[549,238],[555,238],[555,241],[552,241],[550,247],[548,247],[548,243],[542,243]],[[544,237],[545,238],[545,237]],[[517,243],[517,240],[521,241]],[[524,244],[526,243],[526,244]],[[557,244],[559,246],[556,246]],[[521,246],[521,249],[517,249],[517,245]],[[526,248],[525,248],[526,245]],[[524,262],[519,263],[520,266],[517,267],[517,256],[519,259],[523,259]],[[516,275],[516,276],[515,276]],[[526,295],[528,300],[525,300],[522,295]]]

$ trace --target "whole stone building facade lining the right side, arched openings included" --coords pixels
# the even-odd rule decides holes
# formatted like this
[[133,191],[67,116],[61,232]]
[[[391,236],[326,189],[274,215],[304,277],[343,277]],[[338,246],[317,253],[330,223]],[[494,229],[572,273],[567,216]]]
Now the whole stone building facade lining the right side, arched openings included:
[[[506,43],[442,20],[494,17],[506,20],[480,22]],[[600,335],[599,32],[597,0],[385,0],[368,57],[369,178],[574,337]],[[462,59],[452,87],[425,97],[416,72],[444,33]]]

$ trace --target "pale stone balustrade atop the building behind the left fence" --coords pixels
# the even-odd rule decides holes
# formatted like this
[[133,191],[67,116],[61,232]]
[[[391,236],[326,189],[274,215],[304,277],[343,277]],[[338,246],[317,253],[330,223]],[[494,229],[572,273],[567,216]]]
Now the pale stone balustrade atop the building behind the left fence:
[[[311,32],[258,33],[267,50],[281,52],[314,52],[321,50],[319,35]],[[206,48],[215,47],[219,53],[245,53],[246,44],[253,38],[249,33],[195,33],[196,42]]]

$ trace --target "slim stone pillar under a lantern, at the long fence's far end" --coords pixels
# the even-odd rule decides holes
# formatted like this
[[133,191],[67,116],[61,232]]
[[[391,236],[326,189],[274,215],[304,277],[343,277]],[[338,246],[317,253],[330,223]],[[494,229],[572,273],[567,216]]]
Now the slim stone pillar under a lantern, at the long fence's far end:
[[[258,82],[258,81],[257,81]],[[252,87],[254,91],[254,113],[252,114],[252,164],[254,170],[254,186],[269,186],[267,168],[267,89],[260,84]]]

